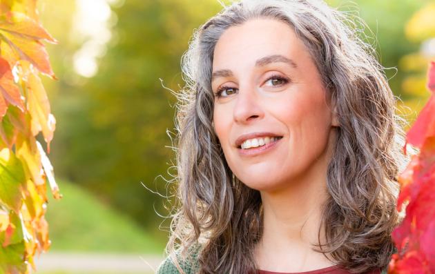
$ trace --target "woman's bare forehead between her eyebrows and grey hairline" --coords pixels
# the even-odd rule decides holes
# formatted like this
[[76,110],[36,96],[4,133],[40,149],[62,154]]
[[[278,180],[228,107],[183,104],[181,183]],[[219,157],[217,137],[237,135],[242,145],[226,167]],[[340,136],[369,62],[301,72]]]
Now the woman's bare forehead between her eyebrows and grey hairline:
[[309,52],[288,23],[250,19],[224,31],[213,53],[213,70],[255,66],[265,56],[282,55],[301,61]]

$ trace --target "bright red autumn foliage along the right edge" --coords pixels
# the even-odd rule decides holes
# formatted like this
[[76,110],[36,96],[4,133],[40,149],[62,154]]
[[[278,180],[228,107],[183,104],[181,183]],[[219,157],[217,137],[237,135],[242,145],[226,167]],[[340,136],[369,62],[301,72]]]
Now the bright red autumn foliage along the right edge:
[[427,86],[432,96],[407,133],[407,143],[420,153],[399,177],[397,207],[407,206],[405,219],[392,235],[398,254],[393,255],[389,273],[435,273],[435,62]]

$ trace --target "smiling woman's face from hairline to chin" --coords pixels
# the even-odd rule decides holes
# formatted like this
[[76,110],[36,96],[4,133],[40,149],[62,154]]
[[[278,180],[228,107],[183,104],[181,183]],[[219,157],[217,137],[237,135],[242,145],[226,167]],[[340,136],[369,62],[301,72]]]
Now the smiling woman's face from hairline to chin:
[[287,23],[252,19],[226,30],[214,51],[212,89],[215,132],[247,186],[279,190],[329,162],[336,118],[315,63]]

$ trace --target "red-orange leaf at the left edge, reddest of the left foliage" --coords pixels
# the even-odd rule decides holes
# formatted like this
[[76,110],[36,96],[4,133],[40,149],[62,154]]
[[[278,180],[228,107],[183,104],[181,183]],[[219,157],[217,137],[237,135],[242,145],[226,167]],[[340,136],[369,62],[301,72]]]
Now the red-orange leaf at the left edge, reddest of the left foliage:
[[[14,77],[10,71],[8,61],[0,57],[0,91],[10,104],[24,111],[23,99],[18,86],[14,83]],[[3,111],[2,111],[3,112]],[[3,116],[2,116],[3,117]]]

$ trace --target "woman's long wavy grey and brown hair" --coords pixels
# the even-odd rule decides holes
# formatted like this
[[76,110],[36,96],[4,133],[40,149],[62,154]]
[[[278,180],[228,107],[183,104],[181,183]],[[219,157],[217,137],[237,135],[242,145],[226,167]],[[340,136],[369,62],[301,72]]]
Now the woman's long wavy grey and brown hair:
[[394,253],[391,233],[400,222],[403,119],[395,113],[396,100],[374,49],[357,35],[355,19],[319,0],[242,0],[195,32],[182,59],[186,86],[177,95],[178,203],[166,251],[189,257],[191,246],[200,244],[198,273],[255,270],[262,201],[224,159],[212,124],[211,90],[218,39],[231,26],[255,18],[283,21],[295,30],[336,106],[340,127],[320,226],[327,243],[313,249],[352,273],[385,268]]

